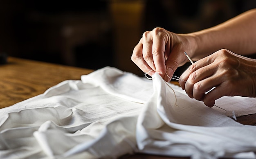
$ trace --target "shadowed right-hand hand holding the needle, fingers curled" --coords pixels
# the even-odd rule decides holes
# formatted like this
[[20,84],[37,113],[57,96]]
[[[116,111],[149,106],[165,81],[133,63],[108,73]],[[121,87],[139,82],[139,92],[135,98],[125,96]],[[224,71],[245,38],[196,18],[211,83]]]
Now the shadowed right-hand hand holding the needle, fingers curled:
[[256,60],[222,49],[191,65],[179,83],[190,98],[208,107],[222,96],[256,97]]

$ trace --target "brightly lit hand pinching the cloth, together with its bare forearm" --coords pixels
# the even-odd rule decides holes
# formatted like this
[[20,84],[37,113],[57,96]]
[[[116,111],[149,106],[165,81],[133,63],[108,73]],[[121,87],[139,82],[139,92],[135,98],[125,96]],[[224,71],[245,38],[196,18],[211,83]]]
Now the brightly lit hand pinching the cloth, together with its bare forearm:
[[252,9],[217,26],[189,34],[155,28],[143,34],[132,52],[132,61],[143,72],[151,71],[149,75],[158,72],[165,81],[170,81],[168,76],[173,76],[177,67],[187,61],[184,51],[195,61],[222,48],[240,54],[255,53],[255,27],[256,9]]

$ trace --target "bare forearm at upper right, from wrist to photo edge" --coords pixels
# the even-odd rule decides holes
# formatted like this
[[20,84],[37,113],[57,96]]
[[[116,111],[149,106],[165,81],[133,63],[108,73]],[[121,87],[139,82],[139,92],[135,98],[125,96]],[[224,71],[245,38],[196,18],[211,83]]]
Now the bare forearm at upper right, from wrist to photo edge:
[[188,35],[193,39],[193,60],[199,60],[222,48],[241,55],[253,54],[256,52],[256,9]]

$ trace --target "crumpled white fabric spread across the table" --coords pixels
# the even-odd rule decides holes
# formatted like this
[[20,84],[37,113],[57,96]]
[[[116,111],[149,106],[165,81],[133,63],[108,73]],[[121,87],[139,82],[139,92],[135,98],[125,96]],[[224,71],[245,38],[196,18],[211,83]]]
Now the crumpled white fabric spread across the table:
[[256,113],[255,103],[220,98],[216,105],[226,113],[190,99],[158,74],[151,81],[106,67],[0,109],[0,158],[117,158],[133,152],[255,158],[256,127],[227,117],[232,111]]

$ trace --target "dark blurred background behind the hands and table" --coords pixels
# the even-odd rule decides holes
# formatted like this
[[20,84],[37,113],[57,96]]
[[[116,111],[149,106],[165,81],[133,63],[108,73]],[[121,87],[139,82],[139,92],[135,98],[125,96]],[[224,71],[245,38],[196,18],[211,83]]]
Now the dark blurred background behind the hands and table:
[[190,33],[253,8],[255,0],[1,0],[0,52],[142,75],[130,57],[144,31]]

